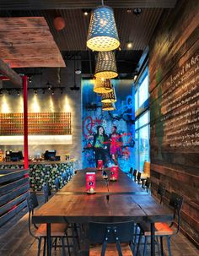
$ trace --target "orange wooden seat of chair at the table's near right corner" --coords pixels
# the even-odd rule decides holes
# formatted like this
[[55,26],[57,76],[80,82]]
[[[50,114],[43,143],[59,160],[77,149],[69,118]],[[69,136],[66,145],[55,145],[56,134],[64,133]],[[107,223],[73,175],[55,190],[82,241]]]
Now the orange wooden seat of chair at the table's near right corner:
[[[142,222],[139,224],[143,230],[144,236],[151,236],[151,226],[148,222]],[[156,222],[155,223],[155,236],[171,236],[174,234],[174,231],[169,227],[167,223]]]

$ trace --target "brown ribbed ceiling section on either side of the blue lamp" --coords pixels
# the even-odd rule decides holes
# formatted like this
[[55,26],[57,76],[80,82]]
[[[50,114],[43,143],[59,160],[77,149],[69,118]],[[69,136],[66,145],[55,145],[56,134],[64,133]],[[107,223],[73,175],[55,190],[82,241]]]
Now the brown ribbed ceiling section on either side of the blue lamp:
[[[126,41],[132,41],[134,51],[143,50],[148,46],[162,12],[163,8],[143,8],[143,13],[136,16],[133,13],[127,14],[126,8],[116,8],[116,25],[121,41],[121,50],[126,50]],[[86,48],[86,38],[90,15],[84,16],[82,9],[9,11],[0,12],[0,16],[43,16],[61,52],[88,50]],[[63,30],[54,28],[53,19],[56,16],[62,16],[65,19],[66,26]]]

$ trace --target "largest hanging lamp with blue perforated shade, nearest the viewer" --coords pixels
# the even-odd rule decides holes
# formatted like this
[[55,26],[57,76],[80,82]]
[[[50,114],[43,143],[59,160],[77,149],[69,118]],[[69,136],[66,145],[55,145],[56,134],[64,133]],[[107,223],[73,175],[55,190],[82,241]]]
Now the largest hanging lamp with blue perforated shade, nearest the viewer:
[[103,0],[91,14],[87,46],[97,52],[112,51],[120,46],[113,9],[105,6]]

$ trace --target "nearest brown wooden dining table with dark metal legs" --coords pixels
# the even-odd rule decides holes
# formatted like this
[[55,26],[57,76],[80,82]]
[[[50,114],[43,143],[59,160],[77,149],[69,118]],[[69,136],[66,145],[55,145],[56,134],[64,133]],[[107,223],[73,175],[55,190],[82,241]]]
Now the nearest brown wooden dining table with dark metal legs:
[[[100,177],[100,172],[97,173],[96,186],[99,190],[96,194],[86,194],[84,191],[87,171],[78,172],[71,182],[56,193],[49,202],[42,205],[33,216],[33,223],[46,223],[48,256],[51,255],[51,223],[129,220],[151,222],[151,255],[154,255],[154,222],[171,221],[172,213],[158,204],[150,195],[133,192],[132,188],[133,186],[137,188],[137,184],[126,184],[128,177],[124,177],[122,173],[119,174],[121,183],[119,180],[118,183],[113,182],[109,192]],[[127,188],[132,193],[129,193]],[[89,255],[89,248],[82,251],[80,255]]]

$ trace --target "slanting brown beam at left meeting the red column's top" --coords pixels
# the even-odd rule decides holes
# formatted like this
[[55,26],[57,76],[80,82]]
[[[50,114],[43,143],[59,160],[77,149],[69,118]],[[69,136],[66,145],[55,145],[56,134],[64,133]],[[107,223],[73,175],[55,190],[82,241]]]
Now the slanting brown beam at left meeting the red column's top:
[[13,71],[12,68],[9,68],[6,63],[3,62],[3,60],[0,59],[0,74],[5,75],[8,77],[8,79],[13,82],[13,84],[17,84],[19,86],[22,86],[22,78],[17,74],[15,71]]

